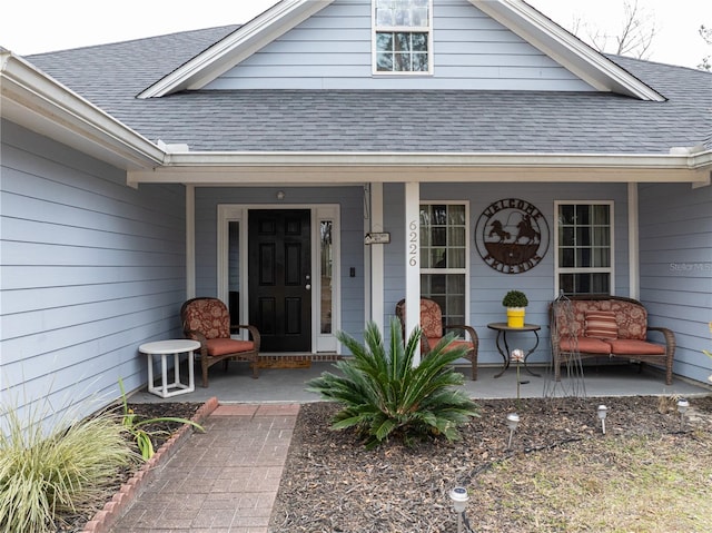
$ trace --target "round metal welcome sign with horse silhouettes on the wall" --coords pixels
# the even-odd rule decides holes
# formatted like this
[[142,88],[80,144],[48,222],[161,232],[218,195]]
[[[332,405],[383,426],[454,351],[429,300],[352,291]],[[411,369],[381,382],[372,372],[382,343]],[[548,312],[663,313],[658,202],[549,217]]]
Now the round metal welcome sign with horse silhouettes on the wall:
[[503,274],[522,274],[546,255],[548,225],[542,211],[528,201],[505,198],[479,215],[475,244],[491,268]]

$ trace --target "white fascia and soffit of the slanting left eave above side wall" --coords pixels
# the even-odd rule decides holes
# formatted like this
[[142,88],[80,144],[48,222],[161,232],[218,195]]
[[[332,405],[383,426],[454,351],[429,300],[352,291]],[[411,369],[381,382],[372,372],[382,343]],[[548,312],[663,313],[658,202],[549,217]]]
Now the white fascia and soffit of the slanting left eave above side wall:
[[23,58],[0,53],[2,118],[118,168],[151,168],[165,151]]

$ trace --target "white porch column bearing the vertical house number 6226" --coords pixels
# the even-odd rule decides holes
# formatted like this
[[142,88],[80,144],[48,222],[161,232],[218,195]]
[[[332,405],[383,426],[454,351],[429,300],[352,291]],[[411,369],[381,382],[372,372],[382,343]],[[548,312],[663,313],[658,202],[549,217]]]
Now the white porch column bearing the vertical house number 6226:
[[[405,334],[421,324],[421,185],[405,184]],[[421,364],[421,348],[413,359]]]

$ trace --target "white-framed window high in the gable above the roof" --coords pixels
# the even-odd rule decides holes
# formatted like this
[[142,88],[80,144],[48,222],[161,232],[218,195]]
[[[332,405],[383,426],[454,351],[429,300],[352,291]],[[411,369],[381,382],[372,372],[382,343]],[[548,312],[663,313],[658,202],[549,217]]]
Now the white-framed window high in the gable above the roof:
[[433,0],[374,0],[374,72],[432,71]]

